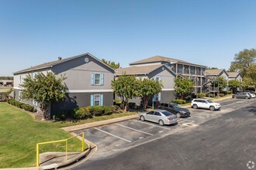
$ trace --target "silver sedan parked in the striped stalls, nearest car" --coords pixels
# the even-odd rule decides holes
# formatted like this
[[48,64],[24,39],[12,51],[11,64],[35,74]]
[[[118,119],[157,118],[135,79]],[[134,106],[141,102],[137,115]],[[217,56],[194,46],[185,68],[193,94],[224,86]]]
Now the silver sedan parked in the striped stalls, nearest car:
[[141,121],[153,121],[164,126],[164,124],[176,124],[177,117],[167,110],[152,110],[149,112],[140,113]]

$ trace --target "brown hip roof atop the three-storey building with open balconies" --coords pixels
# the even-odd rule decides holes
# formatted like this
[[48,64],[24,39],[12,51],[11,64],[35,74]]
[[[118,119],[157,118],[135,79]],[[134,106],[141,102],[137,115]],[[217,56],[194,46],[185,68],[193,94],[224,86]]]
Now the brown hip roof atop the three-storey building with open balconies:
[[[147,59],[141,59],[139,61],[130,63],[130,65],[136,65],[136,64],[142,64],[142,63],[158,63],[158,62],[175,62],[175,63],[185,63],[185,64],[189,64],[189,65],[195,65],[195,66],[202,66],[199,64],[194,64],[194,63],[189,63],[186,62],[182,59],[173,59],[173,58],[169,58],[169,57],[165,57],[165,56],[151,56],[150,58]],[[206,66],[202,66],[202,67],[206,67]]]

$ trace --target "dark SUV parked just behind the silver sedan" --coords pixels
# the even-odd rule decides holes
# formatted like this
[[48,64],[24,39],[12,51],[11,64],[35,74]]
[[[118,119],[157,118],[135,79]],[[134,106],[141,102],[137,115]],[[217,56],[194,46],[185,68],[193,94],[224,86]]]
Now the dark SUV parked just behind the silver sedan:
[[161,103],[158,105],[159,109],[168,110],[171,114],[176,114],[177,117],[189,117],[190,112],[188,109],[182,108],[178,104],[173,103]]

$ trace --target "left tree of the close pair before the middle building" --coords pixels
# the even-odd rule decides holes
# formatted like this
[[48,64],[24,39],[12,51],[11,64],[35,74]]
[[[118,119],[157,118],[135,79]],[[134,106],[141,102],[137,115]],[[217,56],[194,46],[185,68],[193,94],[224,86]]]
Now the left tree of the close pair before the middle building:
[[112,89],[116,96],[121,98],[124,111],[127,111],[129,100],[139,96],[139,85],[139,81],[135,76],[126,74],[119,76],[116,80],[112,80]]

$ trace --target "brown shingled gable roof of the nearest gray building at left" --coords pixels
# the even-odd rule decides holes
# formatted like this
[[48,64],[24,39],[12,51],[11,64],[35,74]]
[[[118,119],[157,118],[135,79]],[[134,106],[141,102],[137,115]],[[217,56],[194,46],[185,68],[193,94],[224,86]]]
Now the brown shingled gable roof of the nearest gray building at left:
[[[31,66],[30,68],[17,71],[17,72],[15,72],[15,73],[13,73],[13,74],[26,73],[26,72],[34,71],[34,70],[47,69],[47,68],[53,67],[53,66],[55,66],[55,65],[57,65],[57,64],[70,61],[71,59],[77,59],[78,57],[86,56],[86,55],[91,56],[92,58],[98,60],[100,63],[102,63],[102,64],[104,64],[105,66],[109,67],[111,70],[114,70],[114,69],[112,69],[112,67],[110,67],[110,66],[107,65],[106,63],[103,63],[100,59],[98,59],[97,57],[93,56],[92,54],[90,54],[90,53],[84,53],[84,54],[81,54],[81,55],[78,55],[78,56],[71,56],[71,57],[67,57],[67,58],[64,58],[64,59],[57,59],[57,60],[52,61],[52,62],[49,62],[49,63],[43,63],[43,64],[40,64],[40,65],[37,65],[37,66]],[[115,70],[114,70],[114,71],[115,71]]]

